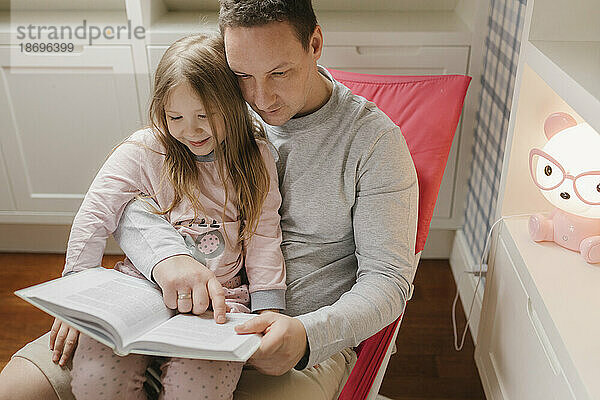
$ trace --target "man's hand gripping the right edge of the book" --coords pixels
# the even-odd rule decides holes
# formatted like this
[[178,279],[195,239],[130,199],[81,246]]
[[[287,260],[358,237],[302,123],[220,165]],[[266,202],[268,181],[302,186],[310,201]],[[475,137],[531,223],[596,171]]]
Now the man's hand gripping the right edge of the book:
[[262,333],[260,347],[248,360],[260,373],[283,375],[306,351],[302,322],[287,315],[265,312],[235,327],[237,333]]

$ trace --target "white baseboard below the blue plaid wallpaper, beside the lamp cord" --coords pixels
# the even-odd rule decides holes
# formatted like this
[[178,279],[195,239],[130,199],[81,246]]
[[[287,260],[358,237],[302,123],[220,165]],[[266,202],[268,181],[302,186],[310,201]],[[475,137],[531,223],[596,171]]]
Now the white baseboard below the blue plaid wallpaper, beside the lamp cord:
[[[465,271],[472,271],[478,268],[478,263],[475,262],[465,236],[462,230],[456,231],[454,237],[454,244],[452,245],[452,251],[450,253],[450,268],[454,280],[458,286],[458,292],[460,295],[460,302],[462,304],[465,315],[469,313],[469,307],[473,301],[473,294],[475,293],[475,287],[477,286],[478,277],[468,274]],[[479,283],[477,288],[477,296],[475,297],[475,303],[473,304],[473,312],[469,320],[469,330],[471,331],[471,337],[473,343],[477,345],[477,331],[479,329],[479,319],[481,315],[481,304],[483,302],[483,281]],[[459,327],[460,332],[457,334],[462,335],[462,329]]]

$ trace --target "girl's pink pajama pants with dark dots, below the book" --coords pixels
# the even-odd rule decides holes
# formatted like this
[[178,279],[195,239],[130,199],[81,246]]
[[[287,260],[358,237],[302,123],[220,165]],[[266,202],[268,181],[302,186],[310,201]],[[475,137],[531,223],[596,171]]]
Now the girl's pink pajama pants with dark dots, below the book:
[[[136,275],[123,269],[121,272]],[[236,277],[223,284],[226,303],[232,312],[250,312],[248,287],[240,283]],[[73,356],[73,394],[78,400],[146,399],[144,374],[152,360],[152,356],[142,354],[117,356],[109,347],[81,334]],[[233,361],[167,359],[161,365],[160,399],[233,399],[243,365]]]

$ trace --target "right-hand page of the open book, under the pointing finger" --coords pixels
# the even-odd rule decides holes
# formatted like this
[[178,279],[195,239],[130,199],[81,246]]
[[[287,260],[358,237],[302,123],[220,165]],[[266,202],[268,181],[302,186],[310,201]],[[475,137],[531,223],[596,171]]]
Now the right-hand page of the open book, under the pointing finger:
[[[228,313],[227,322],[217,324],[213,319],[212,312],[202,315],[179,314],[140,336],[132,346],[135,347],[140,342],[175,344],[180,349],[194,349],[195,351],[190,354],[197,355],[205,351],[207,359],[221,359],[221,357],[211,357],[210,353],[230,352],[233,354],[236,351],[243,352],[244,349],[252,354],[258,348],[261,336],[238,335],[233,328],[254,317],[256,314]],[[167,347],[173,348],[173,346]],[[156,348],[160,348],[160,346]],[[181,354],[181,351],[179,353]],[[199,357],[194,356],[193,358]],[[237,356],[232,356],[230,359],[237,358]]]

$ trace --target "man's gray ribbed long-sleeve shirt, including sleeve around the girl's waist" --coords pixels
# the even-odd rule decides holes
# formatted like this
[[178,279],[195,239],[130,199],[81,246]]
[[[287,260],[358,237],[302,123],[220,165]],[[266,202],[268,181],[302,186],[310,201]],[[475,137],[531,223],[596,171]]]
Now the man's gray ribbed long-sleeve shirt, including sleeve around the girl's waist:
[[[333,81],[323,107],[265,125],[279,153],[285,313],[306,329],[308,366],[394,321],[416,272],[417,176],[400,129],[320,72]],[[119,227],[128,232],[118,241],[134,264],[188,254],[168,222],[143,212],[126,208]]]

